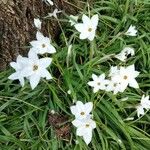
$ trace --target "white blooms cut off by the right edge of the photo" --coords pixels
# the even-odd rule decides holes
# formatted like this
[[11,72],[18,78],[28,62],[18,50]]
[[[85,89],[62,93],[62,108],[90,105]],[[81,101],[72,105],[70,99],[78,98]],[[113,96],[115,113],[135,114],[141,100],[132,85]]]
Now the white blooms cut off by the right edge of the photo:
[[137,106],[137,115],[138,117],[140,117],[140,115],[144,115],[144,109],[149,110],[150,109],[150,100],[149,100],[149,96],[142,96],[141,98],[141,103],[139,104],[139,106]]

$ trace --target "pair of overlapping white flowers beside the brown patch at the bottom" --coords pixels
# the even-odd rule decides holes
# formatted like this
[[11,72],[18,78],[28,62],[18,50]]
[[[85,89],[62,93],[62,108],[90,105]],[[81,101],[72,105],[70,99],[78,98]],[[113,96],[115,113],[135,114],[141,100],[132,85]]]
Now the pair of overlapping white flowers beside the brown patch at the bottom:
[[75,115],[75,120],[72,124],[77,127],[76,134],[82,136],[85,143],[88,145],[92,140],[92,130],[96,128],[96,123],[91,119],[91,111],[93,103],[88,102],[83,104],[77,101],[75,106],[70,107],[72,114]]

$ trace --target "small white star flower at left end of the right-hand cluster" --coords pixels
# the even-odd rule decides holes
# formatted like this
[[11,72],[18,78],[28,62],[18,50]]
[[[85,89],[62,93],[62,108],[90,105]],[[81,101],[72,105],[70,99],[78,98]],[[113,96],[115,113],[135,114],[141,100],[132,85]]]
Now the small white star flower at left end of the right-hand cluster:
[[105,90],[106,85],[109,83],[108,80],[105,80],[105,74],[103,73],[100,76],[92,74],[93,81],[89,81],[88,85],[93,87],[93,92],[96,93],[99,90]]

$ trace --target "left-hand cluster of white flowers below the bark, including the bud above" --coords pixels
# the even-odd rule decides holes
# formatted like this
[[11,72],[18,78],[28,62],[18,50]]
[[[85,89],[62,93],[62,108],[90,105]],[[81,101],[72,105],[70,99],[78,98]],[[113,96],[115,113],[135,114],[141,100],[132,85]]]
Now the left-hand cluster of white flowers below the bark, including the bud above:
[[[40,20],[34,20],[35,26],[40,29]],[[48,37],[44,37],[43,34],[37,31],[37,40],[31,41],[32,48],[28,53],[28,57],[18,56],[16,62],[11,62],[10,65],[15,69],[15,73],[8,78],[11,80],[19,80],[20,84],[24,86],[24,78],[29,79],[31,88],[34,89],[41,78],[47,80],[52,79],[51,74],[46,69],[52,62],[52,58],[39,58],[38,54],[56,52],[55,48],[51,45],[51,41]]]

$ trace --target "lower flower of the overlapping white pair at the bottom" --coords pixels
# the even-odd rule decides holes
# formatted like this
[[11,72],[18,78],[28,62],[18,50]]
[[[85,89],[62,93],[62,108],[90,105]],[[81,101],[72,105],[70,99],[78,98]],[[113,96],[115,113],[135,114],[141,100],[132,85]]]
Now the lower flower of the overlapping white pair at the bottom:
[[76,134],[82,136],[85,143],[88,145],[92,140],[92,130],[96,128],[96,123],[90,118],[86,120],[75,119],[72,124],[77,127]]

